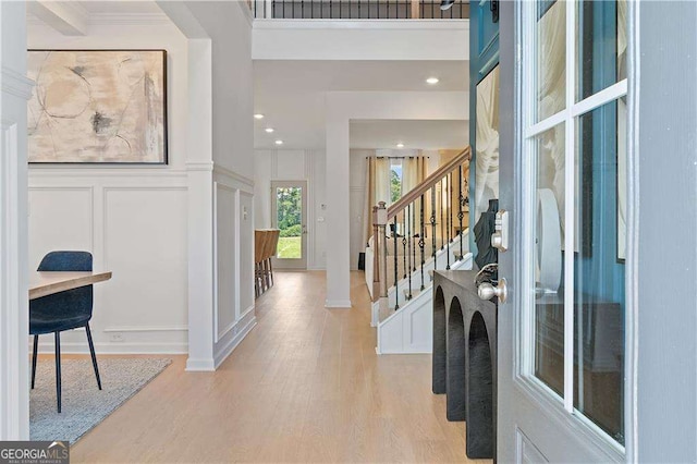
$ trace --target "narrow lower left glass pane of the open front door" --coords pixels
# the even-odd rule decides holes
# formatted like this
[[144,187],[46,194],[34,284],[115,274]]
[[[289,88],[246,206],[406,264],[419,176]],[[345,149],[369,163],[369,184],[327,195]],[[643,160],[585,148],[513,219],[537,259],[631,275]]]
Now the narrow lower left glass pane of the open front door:
[[535,376],[564,392],[564,124],[535,137]]

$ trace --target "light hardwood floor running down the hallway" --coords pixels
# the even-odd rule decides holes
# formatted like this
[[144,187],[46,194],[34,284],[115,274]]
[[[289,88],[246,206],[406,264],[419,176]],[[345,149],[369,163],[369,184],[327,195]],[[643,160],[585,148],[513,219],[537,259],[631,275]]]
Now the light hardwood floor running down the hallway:
[[468,462],[464,423],[430,391],[430,356],[377,356],[363,273],[351,295],[352,309],[326,309],[323,272],[277,272],[218,371],[185,373],[174,356],[72,461]]

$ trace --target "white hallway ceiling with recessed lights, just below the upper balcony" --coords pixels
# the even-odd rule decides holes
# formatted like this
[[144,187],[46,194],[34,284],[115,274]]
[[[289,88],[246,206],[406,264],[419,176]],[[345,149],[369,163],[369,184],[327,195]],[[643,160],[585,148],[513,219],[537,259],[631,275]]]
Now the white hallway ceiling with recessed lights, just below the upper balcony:
[[[425,83],[429,76],[438,76],[440,82],[430,86]],[[323,148],[327,91],[466,91],[468,62],[255,61],[254,81],[255,112],[266,115],[264,120],[255,121],[255,148],[278,148],[276,139],[284,142],[283,148]],[[267,134],[264,132],[267,126],[276,132]],[[388,132],[365,131],[366,137],[380,146],[392,144],[393,147],[399,126],[396,123],[380,124],[379,127]],[[433,131],[436,129],[430,127],[426,132]],[[432,137],[414,141],[425,144]],[[360,144],[364,143],[367,142]],[[354,145],[352,135],[351,146]]]

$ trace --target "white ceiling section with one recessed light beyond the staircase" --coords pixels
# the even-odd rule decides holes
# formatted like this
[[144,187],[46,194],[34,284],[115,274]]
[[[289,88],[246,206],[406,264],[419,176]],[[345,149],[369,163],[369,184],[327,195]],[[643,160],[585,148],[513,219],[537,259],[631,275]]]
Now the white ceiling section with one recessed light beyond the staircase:
[[463,149],[469,145],[468,121],[352,121],[351,148]]

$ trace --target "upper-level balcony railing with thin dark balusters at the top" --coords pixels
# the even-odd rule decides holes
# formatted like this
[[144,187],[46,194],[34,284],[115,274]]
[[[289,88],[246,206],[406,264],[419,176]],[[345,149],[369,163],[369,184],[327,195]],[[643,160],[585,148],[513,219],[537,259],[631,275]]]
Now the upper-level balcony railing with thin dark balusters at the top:
[[469,2],[455,0],[247,0],[257,19],[274,20],[464,20]]

